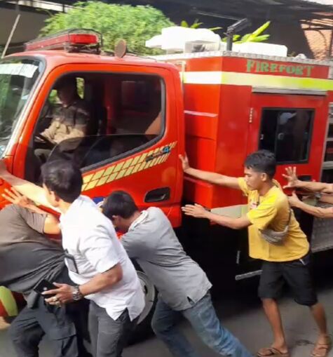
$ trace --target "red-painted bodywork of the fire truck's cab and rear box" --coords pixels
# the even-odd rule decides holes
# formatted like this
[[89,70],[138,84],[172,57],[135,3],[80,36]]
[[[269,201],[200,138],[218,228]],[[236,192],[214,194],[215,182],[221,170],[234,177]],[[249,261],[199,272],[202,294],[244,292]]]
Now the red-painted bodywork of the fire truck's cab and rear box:
[[[246,155],[258,149],[260,112],[263,107],[299,107],[316,110],[310,158],[307,163],[299,165],[299,173],[311,175],[316,180],[320,177],[325,149],[323,142],[327,130],[328,103],[333,100],[332,91],[322,96],[258,94],[253,92],[252,83],[237,85],[223,80],[219,83],[219,80],[214,82],[214,78],[224,74],[249,74],[259,76],[256,79],[259,78],[262,83],[273,76],[284,76],[290,79],[310,77],[322,80],[328,78],[328,65],[315,63],[308,65],[283,60],[252,60],[231,56],[190,58],[185,61],[183,69],[185,74],[197,73],[202,77],[197,83],[185,81],[184,93],[182,93],[177,68],[154,60],[143,60],[132,56],[118,59],[104,55],[50,50],[32,51],[24,55],[38,55],[39,58],[43,58],[46,61],[46,69],[26,109],[20,136],[8,155],[8,158],[14,158],[13,173],[15,175],[20,177],[25,175],[27,146],[36,119],[39,117],[55,79],[72,71],[95,71],[135,72],[161,76],[166,88],[166,126],[163,137],[152,147],[127,156],[119,162],[109,163],[84,173],[85,177],[90,177],[85,187],[85,192],[89,196],[104,197],[113,189],[127,189],[135,196],[139,206],[144,208],[148,206],[144,203],[144,195],[147,191],[158,187],[170,187],[170,200],[159,206],[165,209],[172,219],[172,224],[177,227],[181,222],[179,203],[183,194],[183,175],[177,159],[178,154],[184,152],[186,145],[191,165],[194,167],[231,176],[243,175],[243,161]],[[179,61],[174,62],[179,65]],[[213,80],[214,83],[205,82],[205,76],[210,74],[213,75],[210,76],[210,81]],[[107,110],[111,113],[113,109],[108,107]],[[99,175],[113,170],[111,166],[119,164],[127,167],[130,165],[130,160],[135,162],[135,156],[151,154],[151,151],[169,144],[174,147],[168,159],[158,165],[137,170],[135,174],[126,173],[121,176],[121,180],[117,179],[109,183],[105,180],[104,182],[95,180],[95,177],[100,178]],[[281,178],[282,170],[283,167],[278,168],[278,179]],[[209,208],[235,206],[244,202],[240,193],[192,180],[189,177],[185,179],[184,197],[186,200],[196,201]]]

